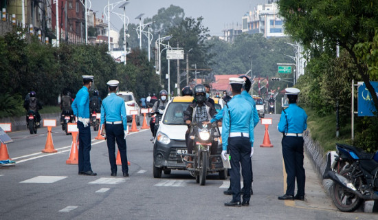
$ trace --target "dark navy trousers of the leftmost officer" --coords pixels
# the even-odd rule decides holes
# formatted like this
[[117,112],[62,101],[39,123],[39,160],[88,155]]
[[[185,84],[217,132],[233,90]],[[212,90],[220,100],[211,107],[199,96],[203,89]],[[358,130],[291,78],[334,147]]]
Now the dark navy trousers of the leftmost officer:
[[79,129],[79,172],[91,171],[91,126],[85,128],[82,122],[78,122]]

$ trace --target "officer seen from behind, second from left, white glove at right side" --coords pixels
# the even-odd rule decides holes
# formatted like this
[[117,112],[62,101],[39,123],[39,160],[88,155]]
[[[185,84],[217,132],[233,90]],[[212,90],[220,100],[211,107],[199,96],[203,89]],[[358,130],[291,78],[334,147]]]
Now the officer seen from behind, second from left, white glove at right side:
[[117,164],[115,164],[115,142],[117,142],[123,176],[129,177],[126,154],[126,107],[124,106],[124,100],[116,95],[119,83],[118,80],[110,80],[107,83],[110,95],[102,100],[101,126],[105,126],[106,130],[111,176],[117,176]]

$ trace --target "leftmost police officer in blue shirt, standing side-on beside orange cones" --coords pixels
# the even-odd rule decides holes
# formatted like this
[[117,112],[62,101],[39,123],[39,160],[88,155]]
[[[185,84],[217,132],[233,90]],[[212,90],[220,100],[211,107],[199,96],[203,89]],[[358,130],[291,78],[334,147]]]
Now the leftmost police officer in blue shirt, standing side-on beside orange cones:
[[79,175],[96,176],[91,168],[91,126],[89,124],[89,91],[93,83],[93,76],[82,76],[83,87],[76,94],[71,107],[78,117],[79,129]]

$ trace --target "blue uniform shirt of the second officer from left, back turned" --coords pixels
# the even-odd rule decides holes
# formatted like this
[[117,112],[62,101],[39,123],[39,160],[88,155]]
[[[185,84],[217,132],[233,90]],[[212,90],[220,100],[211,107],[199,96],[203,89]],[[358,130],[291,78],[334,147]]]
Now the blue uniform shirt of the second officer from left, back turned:
[[126,107],[124,107],[123,98],[111,93],[107,98],[102,100],[101,106],[101,124],[107,122],[118,122],[122,120],[124,131],[127,129]]

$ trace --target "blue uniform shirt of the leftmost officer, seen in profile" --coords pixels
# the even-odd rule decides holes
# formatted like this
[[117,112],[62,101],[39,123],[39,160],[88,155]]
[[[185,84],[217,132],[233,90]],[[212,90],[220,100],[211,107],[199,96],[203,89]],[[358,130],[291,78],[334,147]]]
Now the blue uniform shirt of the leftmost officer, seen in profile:
[[71,104],[74,115],[81,118],[89,118],[89,92],[88,88],[83,86],[76,94],[74,102]]

